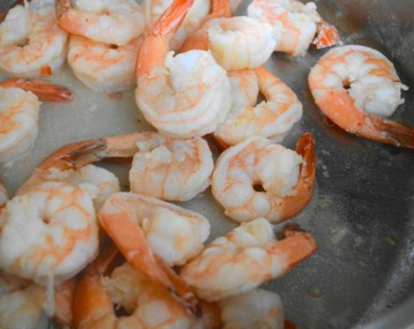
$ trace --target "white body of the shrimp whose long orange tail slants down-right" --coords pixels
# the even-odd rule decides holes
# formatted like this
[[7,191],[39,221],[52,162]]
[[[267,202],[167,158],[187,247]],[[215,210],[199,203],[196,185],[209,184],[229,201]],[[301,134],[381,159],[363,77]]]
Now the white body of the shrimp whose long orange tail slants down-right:
[[170,266],[182,265],[197,255],[210,233],[204,216],[134,193],[111,195],[99,212],[99,218],[111,236],[116,236],[113,224],[120,218],[142,227],[151,250]]

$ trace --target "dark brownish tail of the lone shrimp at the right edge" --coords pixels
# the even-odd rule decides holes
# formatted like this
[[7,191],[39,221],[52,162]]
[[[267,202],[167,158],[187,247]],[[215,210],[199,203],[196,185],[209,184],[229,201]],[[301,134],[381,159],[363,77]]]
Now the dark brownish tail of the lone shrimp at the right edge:
[[369,117],[378,133],[366,136],[362,130],[356,132],[356,134],[378,142],[414,149],[414,127],[373,115]]

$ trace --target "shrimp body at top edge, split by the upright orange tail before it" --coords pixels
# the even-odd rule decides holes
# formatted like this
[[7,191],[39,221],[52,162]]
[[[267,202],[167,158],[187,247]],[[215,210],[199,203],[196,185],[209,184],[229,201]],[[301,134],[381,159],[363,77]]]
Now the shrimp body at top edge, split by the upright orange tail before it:
[[[144,0],[142,7],[145,22],[149,29],[157,21],[157,19],[159,19],[161,14],[168,9],[171,3],[172,0]],[[194,0],[193,5],[190,10],[188,10],[188,13],[176,35],[169,42],[171,50],[178,50],[181,48],[188,35],[197,31],[200,27],[202,20],[207,16],[209,10],[209,1]]]

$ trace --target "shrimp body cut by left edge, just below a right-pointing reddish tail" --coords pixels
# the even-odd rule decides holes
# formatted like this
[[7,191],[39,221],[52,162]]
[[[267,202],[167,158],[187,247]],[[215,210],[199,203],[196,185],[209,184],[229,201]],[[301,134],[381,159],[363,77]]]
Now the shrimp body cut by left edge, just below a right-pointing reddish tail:
[[38,134],[39,99],[31,91],[0,87],[0,163],[24,155]]

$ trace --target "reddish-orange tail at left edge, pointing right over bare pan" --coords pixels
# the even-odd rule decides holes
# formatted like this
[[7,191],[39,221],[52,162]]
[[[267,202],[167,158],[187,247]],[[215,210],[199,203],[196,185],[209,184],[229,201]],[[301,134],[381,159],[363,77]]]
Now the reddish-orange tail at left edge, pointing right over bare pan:
[[70,89],[37,79],[13,78],[0,82],[0,86],[31,91],[42,102],[68,103],[75,99],[75,94]]

